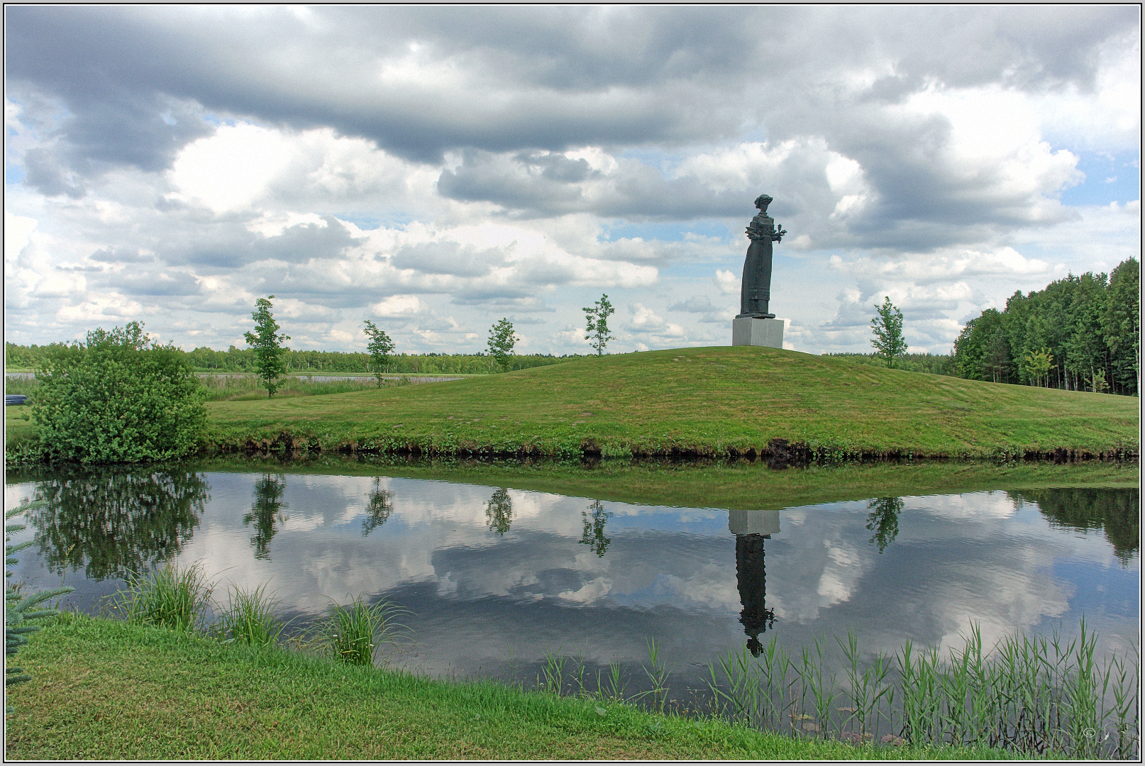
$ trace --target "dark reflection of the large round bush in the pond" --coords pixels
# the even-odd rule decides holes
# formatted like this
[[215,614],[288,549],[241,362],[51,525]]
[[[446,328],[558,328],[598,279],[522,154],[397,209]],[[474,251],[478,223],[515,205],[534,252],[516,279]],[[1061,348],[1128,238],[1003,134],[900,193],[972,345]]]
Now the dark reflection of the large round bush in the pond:
[[48,568],[84,567],[88,579],[125,579],[176,555],[199,526],[203,474],[139,468],[85,469],[41,481],[29,513]]

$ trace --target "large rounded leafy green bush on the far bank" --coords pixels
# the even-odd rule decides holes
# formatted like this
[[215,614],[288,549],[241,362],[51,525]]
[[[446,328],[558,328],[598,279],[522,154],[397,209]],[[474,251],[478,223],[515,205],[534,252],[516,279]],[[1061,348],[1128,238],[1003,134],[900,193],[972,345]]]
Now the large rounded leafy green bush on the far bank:
[[49,347],[37,371],[32,419],[49,459],[135,463],[198,449],[206,409],[183,352],[143,325]]

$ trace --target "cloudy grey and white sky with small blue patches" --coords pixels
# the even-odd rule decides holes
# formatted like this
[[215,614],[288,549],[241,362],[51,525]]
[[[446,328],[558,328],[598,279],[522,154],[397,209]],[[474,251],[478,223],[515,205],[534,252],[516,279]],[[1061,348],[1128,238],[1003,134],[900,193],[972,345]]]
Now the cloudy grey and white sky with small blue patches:
[[1137,7],[13,7],[5,335],[731,342],[756,213],[802,352],[911,352],[1140,248]]

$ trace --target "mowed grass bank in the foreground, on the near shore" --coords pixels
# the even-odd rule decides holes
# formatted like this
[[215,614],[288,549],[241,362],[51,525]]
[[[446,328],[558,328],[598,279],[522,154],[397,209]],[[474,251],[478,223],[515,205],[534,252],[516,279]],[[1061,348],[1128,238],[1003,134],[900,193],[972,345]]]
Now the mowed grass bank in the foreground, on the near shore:
[[8,759],[996,759],[854,747],[600,700],[450,684],[68,615],[19,654]]

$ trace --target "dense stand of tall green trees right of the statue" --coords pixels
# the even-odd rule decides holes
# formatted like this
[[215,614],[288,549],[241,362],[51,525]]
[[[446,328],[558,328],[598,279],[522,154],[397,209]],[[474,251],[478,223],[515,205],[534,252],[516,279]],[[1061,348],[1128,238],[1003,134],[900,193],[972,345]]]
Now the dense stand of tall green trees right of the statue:
[[986,309],[954,341],[961,378],[1138,395],[1140,264],[1087,271],[1044,290],[1016,292]]

